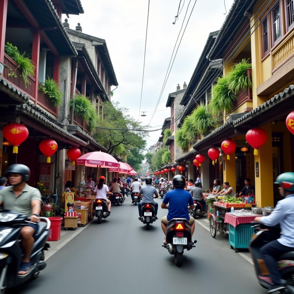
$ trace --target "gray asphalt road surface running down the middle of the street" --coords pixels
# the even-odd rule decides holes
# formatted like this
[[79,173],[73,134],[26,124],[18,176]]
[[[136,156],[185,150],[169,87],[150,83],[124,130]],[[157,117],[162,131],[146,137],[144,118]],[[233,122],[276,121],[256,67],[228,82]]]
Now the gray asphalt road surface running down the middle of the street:
[[[230,250],[226,239],[211,238],[196,223],[196,248],[184,252],[183,266],[161,247],[160,208],[150,230],[138,220],[138,208],[127,197],[114,206],[111,216],[98,224],[96,218],[47,260],[39,277],[17,293],[265,293],[253,265]],[[16,292],[14,292],[16,293]]]

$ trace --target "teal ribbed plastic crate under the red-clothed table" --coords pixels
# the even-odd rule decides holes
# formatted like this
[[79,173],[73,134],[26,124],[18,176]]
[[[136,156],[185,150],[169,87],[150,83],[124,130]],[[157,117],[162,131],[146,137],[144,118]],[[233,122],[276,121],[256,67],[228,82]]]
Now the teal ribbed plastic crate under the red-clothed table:
[[251,228],[252,224],[242,223],[235,228],[233,225],[229,225],[229,244],[234,248],[248,248],[254,228]]

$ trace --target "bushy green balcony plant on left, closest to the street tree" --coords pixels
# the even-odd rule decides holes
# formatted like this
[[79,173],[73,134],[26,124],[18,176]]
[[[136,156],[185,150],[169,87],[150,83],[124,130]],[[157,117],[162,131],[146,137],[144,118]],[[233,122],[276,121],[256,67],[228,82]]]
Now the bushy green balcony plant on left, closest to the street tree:
[[74,106],[74,114],[81,116],[86,121],[88,127],[93,131],[98,123],[98,114],[88,97],[84,95],[69,100],[69,107]]

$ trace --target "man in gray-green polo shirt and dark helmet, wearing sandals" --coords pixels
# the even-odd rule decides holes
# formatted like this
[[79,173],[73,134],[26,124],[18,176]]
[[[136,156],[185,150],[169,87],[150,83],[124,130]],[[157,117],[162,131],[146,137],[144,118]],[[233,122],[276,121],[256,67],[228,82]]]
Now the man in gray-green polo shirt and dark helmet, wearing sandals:
[[26,275],[30,269],[30,256],[34,245],[34,234],[38,231],[37,222],[41,213],[41,193],[38,189],[26,184],[30,177],[30,169],[23,164],[13,164],[6,174],[11,186],[0,191],[0,206],[28,216],[31,222],[21,228],[24,259],[18,275]]

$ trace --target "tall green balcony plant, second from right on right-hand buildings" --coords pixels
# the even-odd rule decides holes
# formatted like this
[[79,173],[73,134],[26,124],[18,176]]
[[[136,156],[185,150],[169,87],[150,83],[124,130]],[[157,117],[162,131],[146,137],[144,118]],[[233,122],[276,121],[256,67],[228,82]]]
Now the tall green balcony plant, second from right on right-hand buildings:
[[217,115],[219,111],[229,112],[237,98],[234,91],[229,89],[227,76],[218,77],[217,83],[212,89],[212,96],[209,109],[214,115]]

